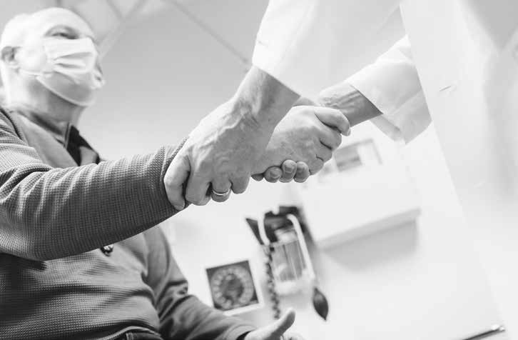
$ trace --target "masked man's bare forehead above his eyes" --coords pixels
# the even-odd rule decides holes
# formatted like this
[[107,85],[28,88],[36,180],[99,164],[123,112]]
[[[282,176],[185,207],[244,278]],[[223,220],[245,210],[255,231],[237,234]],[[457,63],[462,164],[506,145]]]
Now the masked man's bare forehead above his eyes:
[[86,34],[87,36],[93,37],[93,31],[81,16],[78,16],[72,11],[68,11],[68,9],[61,9],[58,7],[43,9],[31,14],[27,18],[26,24],[31,29],[41,32],[41,34],[49,31],[49,29],[54,26],[68,26]]

